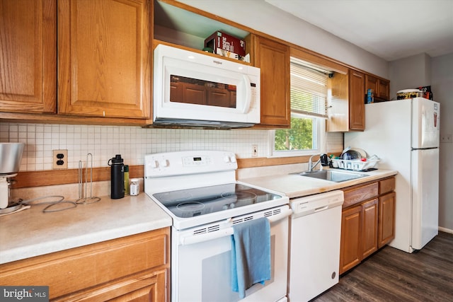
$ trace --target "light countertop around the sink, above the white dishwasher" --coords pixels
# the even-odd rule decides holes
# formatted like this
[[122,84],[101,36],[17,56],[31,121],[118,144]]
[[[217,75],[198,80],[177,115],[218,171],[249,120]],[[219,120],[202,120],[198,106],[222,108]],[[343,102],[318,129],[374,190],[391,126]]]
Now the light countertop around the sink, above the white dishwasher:
[[[355,171],[348,170],[340,169],[331,170],[355,173]],[[287,175],[270,175],[259,178],[242,178],[239,179],[239,181],[247,182],[251,185],[256,185],[258,187],[263,187],[269,190],[285,193],[287,197],[289,197],[289,199],[292,199],[296,197],[303,197],[311,194],[318,194],[322,192],[342,189],[344,187],[350,187],[352,185],[358,185],[360,183],[378,180],[379,178],[386,178],[392,175],[396,175],[398,171],[379,169],[369,172],[357,172],[357,173],[365,174],[367,176],[344,182],[331,182],[316,178],[308,178],[297,174],[287,174]]]

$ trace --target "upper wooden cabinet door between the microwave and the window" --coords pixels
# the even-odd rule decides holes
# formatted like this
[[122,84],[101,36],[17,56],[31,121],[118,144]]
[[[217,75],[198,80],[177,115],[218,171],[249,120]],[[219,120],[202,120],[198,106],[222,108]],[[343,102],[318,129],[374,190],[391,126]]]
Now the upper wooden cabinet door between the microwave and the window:
[[263,37],[256,37],[255,65],[261,69],[259,126],[291,127],[289,47]]

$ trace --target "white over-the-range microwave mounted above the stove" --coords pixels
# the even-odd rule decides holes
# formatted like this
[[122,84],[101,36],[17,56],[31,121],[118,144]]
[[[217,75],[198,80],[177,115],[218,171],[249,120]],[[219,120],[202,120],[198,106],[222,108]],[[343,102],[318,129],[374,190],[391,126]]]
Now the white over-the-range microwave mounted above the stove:
[[259,68],[158,45],[153,79],[153,124],[242,128],[260,122]]

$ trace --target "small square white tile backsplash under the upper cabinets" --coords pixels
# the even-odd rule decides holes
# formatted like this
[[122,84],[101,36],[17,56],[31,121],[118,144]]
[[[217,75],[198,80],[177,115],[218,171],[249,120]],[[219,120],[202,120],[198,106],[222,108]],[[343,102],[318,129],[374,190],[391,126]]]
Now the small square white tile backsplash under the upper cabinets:
[[[68,168],[79,168],[87,154],[93,167],[107,166],[115,154],[127,165],[142,165],[147,153],[183,150],[225,150],[238,158],[268,154],[269,130],[144,129],[130,126],[0,123],[0,142],[25,143],[21,171],[52,170],[52,150],[68,150]],[[328,133],[328,151],[343,149],[343,134]]]

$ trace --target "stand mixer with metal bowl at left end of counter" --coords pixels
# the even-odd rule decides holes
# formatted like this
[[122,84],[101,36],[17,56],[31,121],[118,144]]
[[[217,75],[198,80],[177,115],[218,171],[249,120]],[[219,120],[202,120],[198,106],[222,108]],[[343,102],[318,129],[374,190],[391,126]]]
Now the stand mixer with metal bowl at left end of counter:
[[10,202],[8,178],[17,175],[21,166],[23,143],[0,143],[0,211],[8,208]]

